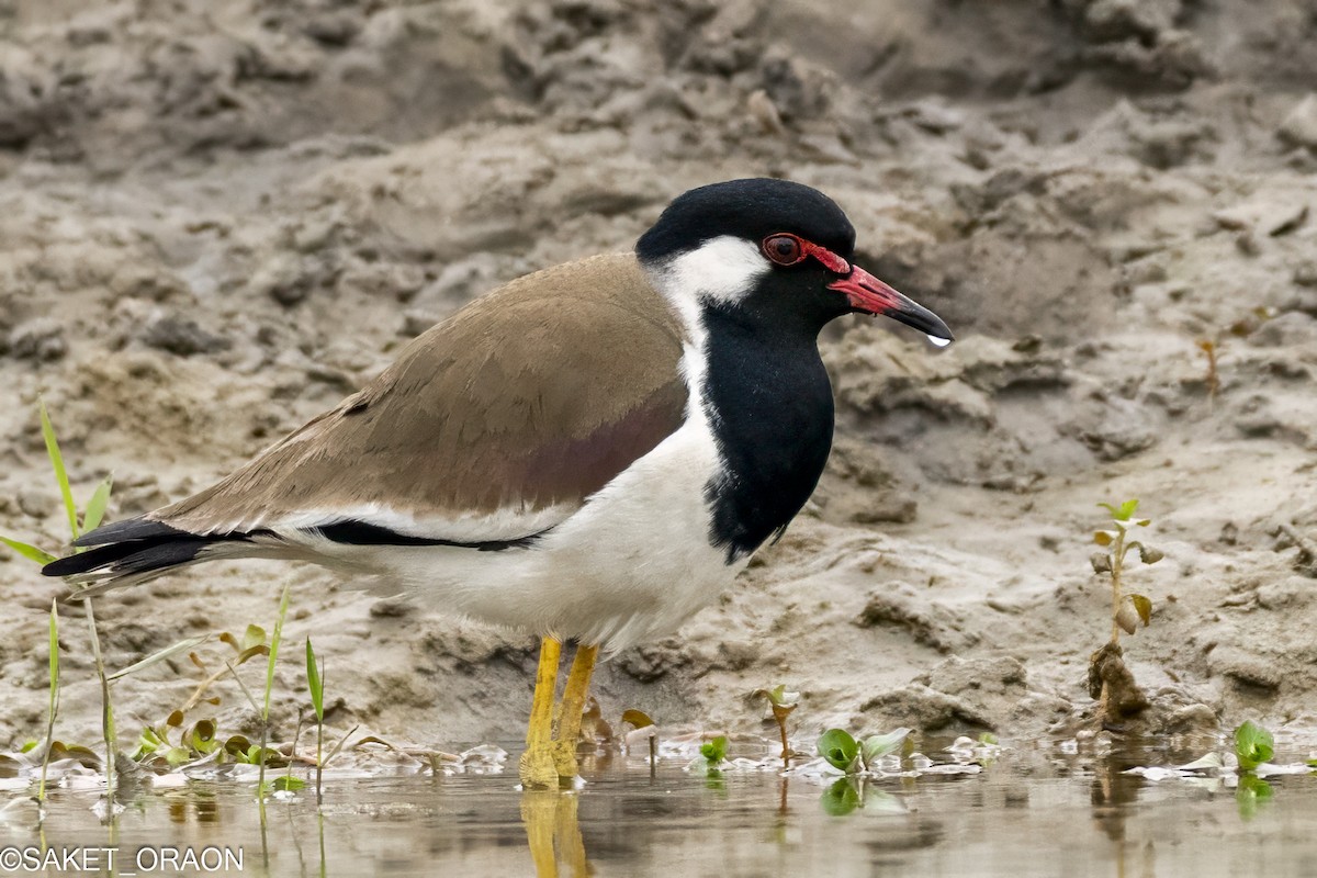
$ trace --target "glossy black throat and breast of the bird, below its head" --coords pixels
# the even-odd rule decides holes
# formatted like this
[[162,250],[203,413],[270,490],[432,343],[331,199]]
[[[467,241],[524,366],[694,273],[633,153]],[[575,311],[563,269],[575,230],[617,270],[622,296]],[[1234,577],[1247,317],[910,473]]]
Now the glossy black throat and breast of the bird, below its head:
[[710,542],[732,563],[781,536],[818,484],[832,446],[832,386],[805,328],[703,308],[705,386],[723,470],[705,488]]

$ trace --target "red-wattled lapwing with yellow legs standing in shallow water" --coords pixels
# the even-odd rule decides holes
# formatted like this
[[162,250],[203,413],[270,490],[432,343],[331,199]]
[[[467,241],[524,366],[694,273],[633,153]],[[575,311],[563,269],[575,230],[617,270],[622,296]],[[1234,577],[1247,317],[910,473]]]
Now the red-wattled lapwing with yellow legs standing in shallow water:
[[87,598],[217,558],[311,561],[537,634],[519,774],[574,783],[599,650],[677,631],[814,491],[834,430],[823,326],[884,315],[952,340],[853,258],[815,188],[693,188],[633,250],[474,299],[223,480],[42,571]]

